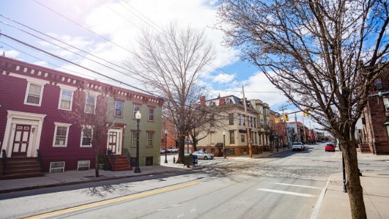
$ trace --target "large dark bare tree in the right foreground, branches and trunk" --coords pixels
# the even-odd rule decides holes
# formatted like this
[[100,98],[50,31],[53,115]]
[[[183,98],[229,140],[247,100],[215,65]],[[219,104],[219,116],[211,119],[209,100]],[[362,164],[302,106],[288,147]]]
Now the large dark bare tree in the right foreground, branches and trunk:
[[366,218],[355,124],[388,65],[388,3],[221,0],[217,28],[290,102],[340,140],[353,218]]

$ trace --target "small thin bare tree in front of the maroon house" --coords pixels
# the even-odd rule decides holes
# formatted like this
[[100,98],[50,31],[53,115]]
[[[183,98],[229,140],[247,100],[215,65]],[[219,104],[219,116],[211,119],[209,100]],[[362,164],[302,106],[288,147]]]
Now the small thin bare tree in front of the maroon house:
[[63,116],[82,130],[82,145],[91,145],[94,150],[94,175],[99,177],[99,145],[108,133],[108,89],[85,82],[81,90],[74,92],[72,111]]

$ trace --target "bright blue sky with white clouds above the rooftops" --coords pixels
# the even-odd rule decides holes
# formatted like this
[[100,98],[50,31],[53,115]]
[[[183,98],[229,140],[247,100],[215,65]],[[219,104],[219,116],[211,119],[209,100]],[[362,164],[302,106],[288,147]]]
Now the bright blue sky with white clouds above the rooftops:
[[[243,85],[245,86],[245,96],[248,99],[260,99],[269,104],[273,111],[280,112],[279,106],[285,105],[287,100],[282,93],[276,90],[267,81],[266,77],[258,72],[256,67],[249,65],[249,63],[241,62],[238,58],[240,52],[238,49],[222,47],[222,32],[211,28],[216,21],[216,4],[217,1],[215,0],[2,1],[0,15],[4,17],[0,17],[0,30],[3,34],[10,35],[13,38],[17,38],[17,40],[27,42],[40,49],[50,51],[97,72],[123,80],[126,83],[136,84],[136,81],[131,81],[133,79],[129,77],[97,65],[87,58],[76,56],[69,51],[49,44],[49,42],[54,42],[54,40],[31,29],[67,42],[74,47],[94,54],[94,56],[109,60],[111,63],[122,65],[122,60],[128,56],[128,51],[125,49],[135,42],[135,38],[138,36],[141,28],[159,29],[173,20],[179,26],[188,26],[189,24],[197,29],[206,29],[208,40],[215,47],[216,58],[212,65],[206,66],[206,73],[203,76],[203,83],[211,94],[218,95],[220,93],[222,96],[235,95],[242,97]],[[28,33],[33,33],[48,42],[19,31],[7,24]],[[58,42],[55,43],[58,44]],[[6,56],[10,58],[71,74],[95,77],[106,83],[113,83],[106,81],[101,76],[85,72],[85,70],[81,70],[74,65],[45,56],[4,36],[0,38],[0,47],[0,53],[2,54],[4,51]],[[64,47],[67,47],[70,51],[76,51],[66,45]],[[76,53],[82,54],[80,51],[76,51]],[[85,54],[84,56],[96,59]],[[211,95],[210,98],[215,97]],[[286,112],[292,111],[297,111],[297,109],[293,106],[288,106]],[[290,118],[294,120],[294,116],[290,116]],[[301,113],[297,114],[297,120],[301,121]]]

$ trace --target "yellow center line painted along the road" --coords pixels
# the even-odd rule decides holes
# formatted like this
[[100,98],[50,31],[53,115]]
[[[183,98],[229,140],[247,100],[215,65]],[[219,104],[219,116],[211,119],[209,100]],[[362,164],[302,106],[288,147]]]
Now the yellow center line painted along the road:
[[[50,217],[50,216],[57,216],[57,215],[60,215],[60,214],[63,214],[63,213],[70,213],[70,212],[73,212],[73,211],[81,211],[83,209],[90,209],[90,208],[93,208],[93,207],[96,207],[96,206],[101,206],[101,205],[106,205],[106,204],[113,204],[113,203],[116,203],[116,202],[122,202],[122,201],[126,201],[126,200],[131,200],[131,199],[134,199],[134,198],[137,198],[137,197],[145,197],[145,196],[148,196],[148,195],[156,195],[158,193],[165,193],[165,192],[170,191],[170,190],[176,190],[176,189],[185,188],[185,187],[188,187],[188,186],[195,186],[197,184],[200,184],[200,182],[199,181],[195,181],[195,182],[192,182],[190,184],[183,184],[183,185],[179,185],[179,186],[163,188],[163,189],[160,189],[160,190],[152,190],[152,191],[149,191],[147,193],[139,193],[139,194],[136,194],[136,195],[126,195],[124,197],[117,197],[117,198],[114,198],[114,199],[111,199],[111,200],[105,200],[105,201],[101,201],[101,202],[94,202],[94,203],[90,203],[90,204],[84,204],[84,205],[81,205],[81,206],[71,207],[69,209],[63,209],[63,210],[58,210],[58,211],[51,211],[51,212],[48,212],[48,213],[42,213],[42,214],[38,214],[36,216],[27,217],[27,218],[28,219],[30,219],[30,218],[46,218],[46,217]],[[27,218],[24,218],[24,219],[27,219]]]

